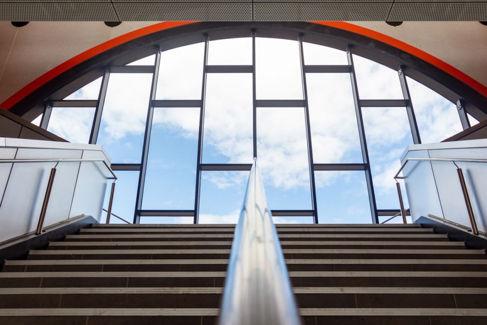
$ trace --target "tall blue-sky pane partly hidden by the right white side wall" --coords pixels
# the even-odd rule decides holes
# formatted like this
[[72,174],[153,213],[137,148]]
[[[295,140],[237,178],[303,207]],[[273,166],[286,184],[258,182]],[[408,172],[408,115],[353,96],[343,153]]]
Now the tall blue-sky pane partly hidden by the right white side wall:
[[[377,208],[399,208],[393,177],[401,167],[401,155],[413,143],[406,108],[367,107],[362,109],[362,116]],[[407,207],[404,187],[402,194]]]

